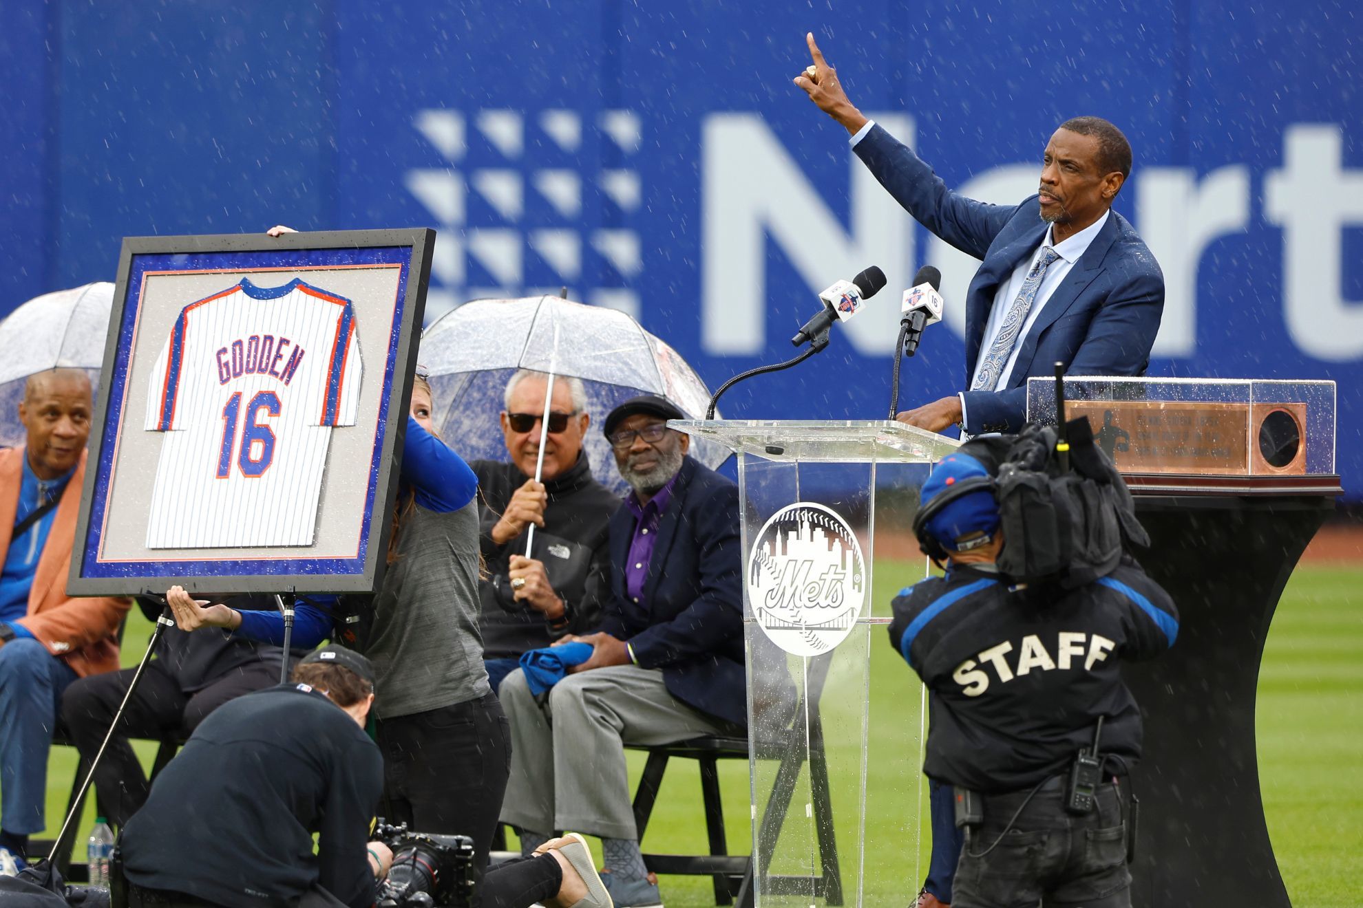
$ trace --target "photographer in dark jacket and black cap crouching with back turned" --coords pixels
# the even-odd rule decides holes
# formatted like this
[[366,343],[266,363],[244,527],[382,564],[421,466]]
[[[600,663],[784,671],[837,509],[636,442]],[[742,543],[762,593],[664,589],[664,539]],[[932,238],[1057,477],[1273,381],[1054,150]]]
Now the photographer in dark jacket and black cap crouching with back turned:
[[293,679],[219,707],[157,776],[120,843],[129,905],[373,904],[393,859],[367,834],[383,791],[364,734],[373,670],[326,647]]

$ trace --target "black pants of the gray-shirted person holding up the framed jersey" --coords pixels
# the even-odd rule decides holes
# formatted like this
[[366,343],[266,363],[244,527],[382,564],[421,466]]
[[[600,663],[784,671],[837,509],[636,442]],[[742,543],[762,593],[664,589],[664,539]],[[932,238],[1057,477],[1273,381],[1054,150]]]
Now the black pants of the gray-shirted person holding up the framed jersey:
[[511,727],[496,694],[380,719],[378,738],[388,822],[469,836],[487,867],[511,772]]

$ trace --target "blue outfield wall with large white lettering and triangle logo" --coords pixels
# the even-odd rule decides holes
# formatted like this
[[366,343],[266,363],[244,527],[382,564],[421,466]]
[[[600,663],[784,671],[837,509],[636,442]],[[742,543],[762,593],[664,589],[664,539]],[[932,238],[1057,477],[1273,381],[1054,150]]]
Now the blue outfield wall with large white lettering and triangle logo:
[[1033,192],[1066,117],[1119,124],[1118,210],[1168,285],[1152,374],[1336,380],[1338,471],[1363,497],[1356,4],[816,5],[7,0],[0,312],[112,279],[123,236],[429,225],[432,316],[567,285],[713,387],[791,355],[814,294],[879,264],[883,298],[826,353],[726,398],[874,418],[898,291],[935,264],[949,317],[902,400],[943,396],[975,263],[791,83],[812,30],[853,101],[975,197]]

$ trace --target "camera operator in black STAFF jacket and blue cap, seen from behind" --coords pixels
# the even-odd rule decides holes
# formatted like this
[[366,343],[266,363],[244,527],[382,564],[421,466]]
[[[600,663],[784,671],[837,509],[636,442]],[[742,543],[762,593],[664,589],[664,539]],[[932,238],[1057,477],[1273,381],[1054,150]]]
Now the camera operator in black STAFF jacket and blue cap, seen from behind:
[[890,644],[931,707],[934,860],[919,904],[1126,907],[1119,785],[1141,757],[1141,713],[1119,660],[1172,645],[1178,611],[1130,558],[1074,589],[1010,587],[992,489],[965,452],[932,470],[915,531],[946,576],[893,602]]

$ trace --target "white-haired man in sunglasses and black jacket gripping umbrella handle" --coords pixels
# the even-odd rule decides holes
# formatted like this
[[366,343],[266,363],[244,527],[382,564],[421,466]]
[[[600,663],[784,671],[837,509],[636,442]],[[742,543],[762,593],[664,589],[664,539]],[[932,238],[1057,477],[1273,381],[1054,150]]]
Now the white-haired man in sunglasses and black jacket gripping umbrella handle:
[[[483,558],[483,658],[496,692],[521,653],[594,628],[609,594],[611,515],[620,500],[592,476],[582,438],[592,418],[578,378],[553,381],[542,482],[536,482],[548,376],[522,369],[507,381],[502,411],[510,463],[474,460]],[[534,524],[534,551],[526,528]]]

